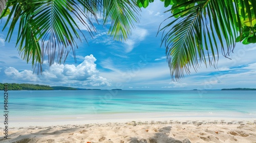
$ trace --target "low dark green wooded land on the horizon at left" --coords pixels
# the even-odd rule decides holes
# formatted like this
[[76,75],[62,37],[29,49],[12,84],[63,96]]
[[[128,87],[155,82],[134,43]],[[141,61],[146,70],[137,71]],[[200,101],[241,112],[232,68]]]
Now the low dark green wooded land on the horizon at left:
[[[4,90],[4,85],[8,85],[8,90],[101,90],[101,89],[86,89],[86,88],[73,88],[66,86],[49,86],[39,84],[27,84],[27,83],[0,83],[0,90]],[[122,89],[112,89],[122,90]]]

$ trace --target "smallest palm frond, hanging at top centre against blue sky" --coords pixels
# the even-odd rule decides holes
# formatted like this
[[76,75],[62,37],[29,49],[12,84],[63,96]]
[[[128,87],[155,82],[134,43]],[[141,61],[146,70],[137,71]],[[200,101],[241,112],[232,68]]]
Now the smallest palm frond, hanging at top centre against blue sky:
[[134,22],[139,22],[139,8],[134,0],[103,1],[104,25],[111,19],[109,33],[115,40],[126,40],[132,33]]

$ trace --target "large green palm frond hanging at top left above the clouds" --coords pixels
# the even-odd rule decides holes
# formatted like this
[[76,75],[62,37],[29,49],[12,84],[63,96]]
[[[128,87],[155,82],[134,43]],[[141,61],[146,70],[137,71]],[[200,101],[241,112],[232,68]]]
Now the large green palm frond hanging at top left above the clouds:
[[[75,47],[77,47],[76,39],[81,40],[77,32],[81,32],[81,30],[74,17],[93,36],[95,28],[89,14],[96,18],[94,12],[96,5],[99,4],[94,3],[94,1],[9,0],[7,7],[12,6],[12,9],[4,29],[11,21],[7,36],[10,40],[15,26],[19,23],[16,45],[18,45],[23,59],[27,62],[32,60],[32,65],[42,64],[45,55],[48,55],[50,65],[54,63],[55,58],[57,58],[58,63],[61,63],[62,59],[66,59],[66,57],[63,58],[65,53],[69,53],[70,50],[74,53]],[[87,12],[84,12],[85,9]],[[19,22],[17,22],[18,20]],[[58,55],[56,56],[55,53]]]

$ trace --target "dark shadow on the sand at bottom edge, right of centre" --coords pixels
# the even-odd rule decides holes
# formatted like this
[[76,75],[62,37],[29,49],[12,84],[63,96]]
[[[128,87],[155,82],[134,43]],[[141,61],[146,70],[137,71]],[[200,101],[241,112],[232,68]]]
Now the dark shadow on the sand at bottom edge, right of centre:
[[158,130],[154,136],[149,138],[137,138],[131,137],[130,143],[191,143],[188,139],[177,140],[172,137],[168,137],[168,134],[171,133],[172,127],[164,127]]

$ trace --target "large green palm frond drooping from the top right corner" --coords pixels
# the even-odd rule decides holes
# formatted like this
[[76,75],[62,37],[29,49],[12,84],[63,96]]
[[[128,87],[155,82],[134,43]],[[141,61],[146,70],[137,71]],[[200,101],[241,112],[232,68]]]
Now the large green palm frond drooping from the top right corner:
[[[256,7],[249,1],[195,0],[168,10],[176,13],[161,23],[163,25],[172,20],[159,31],[163,31],[162,44],[166,47],[173,79],[179,80],[185,73],[189,74],[191,67],[197,71],[201,63],[216,66],[219,49],[222,55],[229,56],[237,36],[243,34],[245,24],[241,21],[241,10],[248,14],[247,20],[253,26],[255,16],[249,11]],[[241,9],[240,2],[244,4],[244,9]],[[184,10],[179,11],[182,8]],[[173,17],[178,18],[173,20]]]

